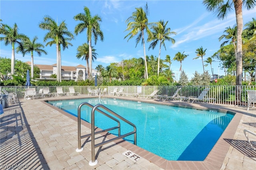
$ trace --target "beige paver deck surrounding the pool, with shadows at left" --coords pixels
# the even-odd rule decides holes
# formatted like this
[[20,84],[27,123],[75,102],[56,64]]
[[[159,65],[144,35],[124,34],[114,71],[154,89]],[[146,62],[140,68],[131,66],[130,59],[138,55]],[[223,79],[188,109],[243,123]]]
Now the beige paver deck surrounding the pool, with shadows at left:
[[[88,96],[76,96],[72,99],[81,97]],[[235,106],[202,103],[191,105],[191,103],[155,100],[140,101],[232,111],[236,112],[236,116],[204,161],[168,161],[129,142],[118,140],[96,148],[98,164],[89,166],[89,161],[92,160],[90,138],[83,139],[84,150],[76,152],[77,118],[44,102],[44,100],[68,98],[70,96],[20,100],[17,105],[10,105],[4,109],[4,114],[0,115],[1,169],[254,170],[256,167],[256,150],[250,148],[243,132],[244,129],[256,132],[255,108],[247,111],[247,108]],[[119,98],[123,99],[123,97]],[[125,97],[124,99],[133,98]],[[81,130],[84,134],[91,133],[90,124],[82,121]],[[96,138],[98,143],[113,138],[113,135],[102,133],[96,135]],[[251,136],[251,139],[256,141],[255,136]],[[256,147],[256,144],[254,146]],[[131,158],[129,153],[133,153],[140,159],[135,160],[135,156]]]

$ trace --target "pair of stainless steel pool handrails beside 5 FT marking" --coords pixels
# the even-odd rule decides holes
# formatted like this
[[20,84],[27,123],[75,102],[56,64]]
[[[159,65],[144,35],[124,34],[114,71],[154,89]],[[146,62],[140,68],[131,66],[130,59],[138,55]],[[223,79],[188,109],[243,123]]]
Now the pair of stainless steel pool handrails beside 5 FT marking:
[[[83,105],[87,105],[87,106],[92,108],[92,113],[91,113],[91,119],[92,119],[91,130],[92,130],[92,133],[84,135],[84,136],[81,136],[81,107]],[[129,125],[131,125],[134,128],[134,130],[132,132],[120,135],[120,121],[118,121],[114,117],[108,115],[104,111],[101,111],[100,109],[98,109],[98,107],[100,107],[102,109],[105,109],[106,111],[108,111],[112,115],[118,117],[119,119],[121,119],[125,123],[128,123]],[[108,129],[105,129],[105,130],[100,130],[98,132],[95,132],[95,128],[94,128],[94,125],[95,125],[95,121],[94,121],[95,111],[98,111],[98,112],[102,113],[103,115],[109,117],[110,119],[116,121],[118,123],[118,126],[112,127],[112,128],[108,128]],[[101,143],[98,143],[98,144],[95,144],[95,134],[98,134],[98,133],[101,133],[101,132],[110,131],[110,130],[113,130],[113,129],[116,129],[116,128],[118,128],[118,137],[112,138],[110,140],[107,140],[107,141],[104,141],[104,142],[101,142]],[[117,139],[120,139],[120,138],[124,138],[126,136],[131,135],[131,134],[134,134],[134,144],[136,145],[137,144],[136,126],[133,123],[131,123],[130,121],[128,121],[128,120],[124,119],[123,117],[121,117],[120,115],[116,114],[114,111],[108,109],[104,105],[98,104],[98,105],[93,106],[93,105],[91,105],[89,103],[86,103],[86,102],[81,103],[79,105],[79,107],[78,107],[78,148],[76,149],[76,152],[81,152],[83,150],[83,148],[81,147],[81,139],[91,136],[92,137],[92,140],[91,140],[92,141],[92,144],[91,144],[91,146],[92,146],[92,160],[89,162],[90,166],[94,166],[94,165],[96,165],[98,163],[98,160],[95,159],[95,148],[103,146],[104,144],[108,144],[108,143],[110,143],[110,142],[112,142],[114,140],[117,140]]]

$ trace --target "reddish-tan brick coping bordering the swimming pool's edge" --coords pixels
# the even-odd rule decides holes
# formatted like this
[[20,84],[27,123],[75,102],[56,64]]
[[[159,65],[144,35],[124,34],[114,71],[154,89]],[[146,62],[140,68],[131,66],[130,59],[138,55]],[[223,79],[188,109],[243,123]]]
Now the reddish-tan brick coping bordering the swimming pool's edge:
[[[76,99],[79,98],[97,98],[97,97],[92,97],[92,96],[82,96],[82,97],[78,97]],[[184,105],[186,103],[184,102],[164,102],[164,101],[154,101],[154,100],[141,100],[141,99],[132,99],[132,98],[120,98],[120,97],[106,97],[106,98],[116,98],[116,99],[123,99],[123,100],[130,100],[130,101],[143,101],[146,103],[154,103],[154,104],[161,104],[162,105],[174,105],[174,106],[178,106],[178,107],[186,107],[186,108],[191,108],[192,106],[194,106],[193,108],[200,108],[200,109],[213,109],[213,110],[218,110],[218,111],[226,111],[229,112],[229,110],[225,110],[225,109],[217,109],[216,107],[214,107],[214,105],[208,104],[207,107],[202,107],[202,106],[196,106],[196,105],[190,105],[190,103],[188,103],[188,105]],[[68,100],[68,99],[59,99],[57,101],[60,100]],[[77,117],[70,115],[69,113],[66,113],[65,111],[62,111],[61,109],[58,109],[57,107],[54,107],[48,103],[46,103],[45,101],[56,101],[56,99],[49,99],[49,100],[44,100],[42,101],[44,104],[52,107],[53,109],[58,110],[60,113],[66,115],[67,117],[69,117],[70,119],[73,119],[74,121],[77,121]],[[242,118],[242,113],[239,112],[234,112],[231,111],[232,113],[235,113],[232,121],[229,123],[229,125],[226,127],[225,131],[222,133],[222,135],[220,136],[220,138],[218,139],[218,141],[216,142],[216,144],[214,145],[214,147],[212,148],[212,150],[210,151],[210,153],[208,154],[208,156],[205,158],[204,161],[173,161],[173,160],[166,160],[156,154],[153,154],[152,152],[149,152],[147,150],[144,150],[142,148],[140,148],[139,146],[136,146],[130,142],[127,142],[125,140],[116,140],[116,144],[122,146],[123,148],[126,148],[127,150],[130,150],[140,156],[142,156],[142,158],[145,158],[146,160],[152,162],[153,164],[156,164],[157,166],[159,166],[160,168],[163,169],[220,169],[222,167],[222,164],[224,162],[224,159],[226,157],[226,154],[228,152],[228,149],[230,147],[230,144],[228,142],[226,142],[225,139],[232,139],[234,137],[234,134],[236,133],[236,129],[240,123],[240,119]],[[81,121],[81,125],[87,127],[87,128],[91,128],[91,124],[87,123],[86,121]],[[112,134],[108,134],[107,138],[114,138],[116,136],[112,135]]]

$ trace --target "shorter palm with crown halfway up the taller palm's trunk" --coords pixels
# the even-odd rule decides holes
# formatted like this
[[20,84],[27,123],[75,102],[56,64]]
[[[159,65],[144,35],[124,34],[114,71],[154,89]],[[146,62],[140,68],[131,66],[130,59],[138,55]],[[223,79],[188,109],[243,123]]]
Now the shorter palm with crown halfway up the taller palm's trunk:
[[[80,59],[82,57],[82,60],[84,59],[86,61],[86,70],[87,70],[87,75],[90,75],[90,70],[89,68],[89,45],[88,43],[84,43],[83,45],[79,45],[77,48],[77,53],[76,53],[76,58]],[[96,51],[96,49],[94,49],[92,47],[92,61],[94,61],[94,59],[97,59],[96,55],[98,55],[97,53],[95,53],[94,51]]]

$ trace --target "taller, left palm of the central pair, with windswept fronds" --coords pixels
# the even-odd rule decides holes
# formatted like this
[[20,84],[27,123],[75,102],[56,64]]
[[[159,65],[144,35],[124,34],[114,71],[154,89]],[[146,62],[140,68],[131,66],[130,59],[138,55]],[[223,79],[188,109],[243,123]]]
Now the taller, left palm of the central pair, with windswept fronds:
[[150,29],[148,28],[148,25],[151,25],[153,23],[148,23],[148,3],[146,3],[145,10],[143,8],[135,8],[136,11],[132,12],[132,16],[130,16],[127,20],[127,28],[125,31],[130,31],[124,38],[128,38],[128,41],[133,38],[134,36],[137,36],[136,38],[136,46],[142,39],[142,45],[144,49],[144,64],[145,64],[145,73],[146,77],[145,79],[148,79],[148,66],[147,66],[147,59],[146,59],[146,48],[145,48],[145,40],[144,40],[144,30],[146,30],[147,34],[152,34],[150,32]]

